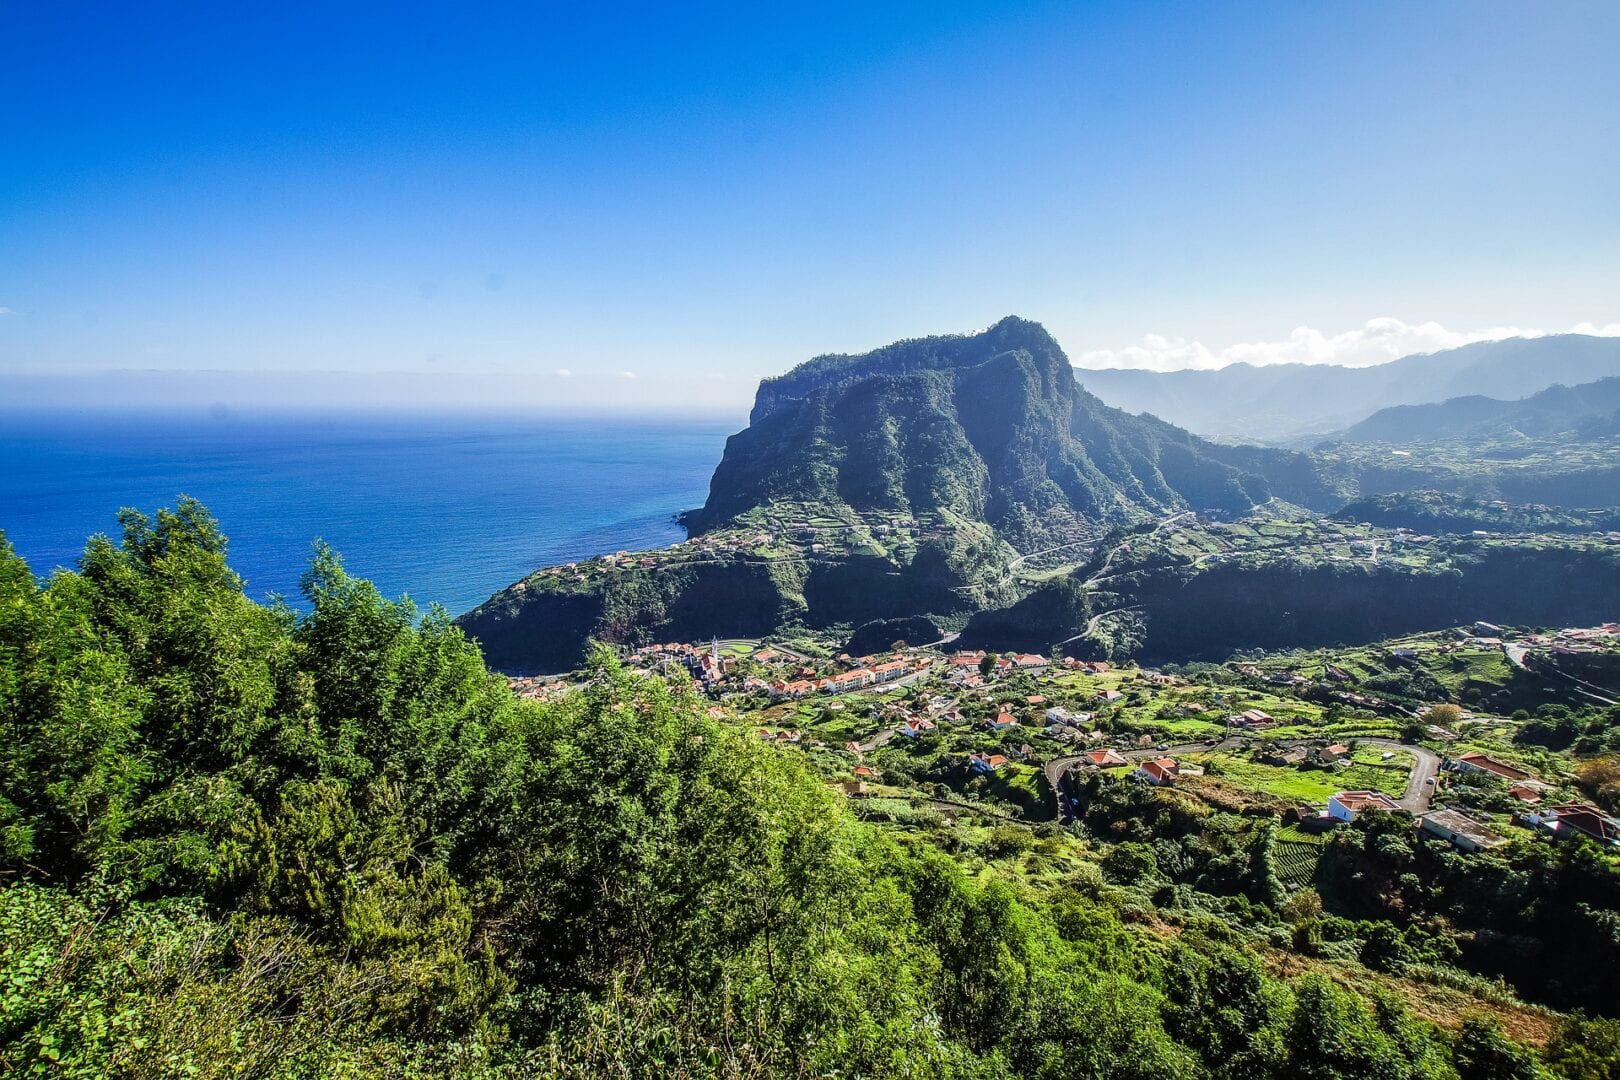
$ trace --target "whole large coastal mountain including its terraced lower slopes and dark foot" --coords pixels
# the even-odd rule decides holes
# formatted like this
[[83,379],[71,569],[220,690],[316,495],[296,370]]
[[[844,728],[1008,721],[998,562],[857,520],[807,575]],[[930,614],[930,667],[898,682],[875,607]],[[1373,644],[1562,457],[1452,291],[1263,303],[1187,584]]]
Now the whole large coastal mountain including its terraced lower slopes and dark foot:
[[1336,505],[1304,455],[1108,408],[1045,329],[1009,317],[768,379],[685,518],[692,541],[531,575],[458,622],[502,670],[559,670],[590,638],[964,617],[1016,601],[1032,554],[1272,497]]

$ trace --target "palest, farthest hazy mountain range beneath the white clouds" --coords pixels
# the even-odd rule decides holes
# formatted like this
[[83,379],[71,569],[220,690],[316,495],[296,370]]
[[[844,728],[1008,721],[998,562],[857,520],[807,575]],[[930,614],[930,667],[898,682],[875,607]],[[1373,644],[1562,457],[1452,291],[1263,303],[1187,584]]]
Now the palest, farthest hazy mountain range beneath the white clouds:
[[1309,445],[1393,405],[1523,398],[1620,376],[1620,338],[1563,334],[1481,342],[1372,368],[1231,364],[1218,371],[1076,371],[1108,405],[1152,413],[1205,439]]

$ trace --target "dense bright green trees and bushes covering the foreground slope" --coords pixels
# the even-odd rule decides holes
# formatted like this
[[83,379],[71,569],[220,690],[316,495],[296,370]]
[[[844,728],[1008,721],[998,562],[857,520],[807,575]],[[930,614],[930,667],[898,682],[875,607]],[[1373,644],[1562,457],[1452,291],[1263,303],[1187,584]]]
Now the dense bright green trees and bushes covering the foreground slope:
[[[0,542],[8,1072],[1534,1067],[1486,1022],[1280,981],[1218,918],[1168,934],[1095,878],[970,878],[608,654],[522,701],[327,551],[300,614],[243,596],[199,505],[122,521],[47,583]],[[1583,1031],[1555,1061],[1605,1075],[1614,1033]]]

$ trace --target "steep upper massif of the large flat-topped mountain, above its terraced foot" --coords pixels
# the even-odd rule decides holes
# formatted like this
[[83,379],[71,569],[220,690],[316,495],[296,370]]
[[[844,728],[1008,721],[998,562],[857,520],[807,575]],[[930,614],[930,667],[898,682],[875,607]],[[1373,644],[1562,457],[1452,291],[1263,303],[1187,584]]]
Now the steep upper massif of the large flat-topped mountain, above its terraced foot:
[[949,510],[1029,547],[1170,510],[1247,510],[1272,478],[1294,500],[1324,494],[1302,455],[1217,447],[1108,408],[1040,324],[1009,317],[768,379],[690,525],[776,502]]

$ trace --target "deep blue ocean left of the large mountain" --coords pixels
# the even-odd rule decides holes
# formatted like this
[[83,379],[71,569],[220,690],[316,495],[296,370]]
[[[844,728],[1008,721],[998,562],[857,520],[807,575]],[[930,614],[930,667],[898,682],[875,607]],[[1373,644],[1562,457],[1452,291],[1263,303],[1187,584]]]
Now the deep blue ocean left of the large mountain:
[[724,419],[0,415],[0,531],[36,575],[120,507],[201,499],[248,594],[303,604],[324,538],[387,596],[460,614],[536,567],[684,539]]

